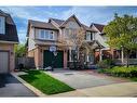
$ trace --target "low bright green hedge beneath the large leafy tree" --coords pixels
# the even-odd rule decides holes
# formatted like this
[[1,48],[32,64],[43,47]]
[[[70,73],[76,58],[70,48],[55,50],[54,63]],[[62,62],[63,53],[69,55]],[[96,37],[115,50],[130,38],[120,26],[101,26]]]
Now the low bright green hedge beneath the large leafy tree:
[[118,77],[137,77],[137,66],[115,66],[112,68],[99,69],[98,72]]

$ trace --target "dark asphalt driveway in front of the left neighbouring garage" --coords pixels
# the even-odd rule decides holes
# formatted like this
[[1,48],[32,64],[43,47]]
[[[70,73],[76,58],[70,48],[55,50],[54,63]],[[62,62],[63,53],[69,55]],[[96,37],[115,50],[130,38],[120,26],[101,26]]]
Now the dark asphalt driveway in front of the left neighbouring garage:
[[0,96],[36,96],[12,75],[0,75]]

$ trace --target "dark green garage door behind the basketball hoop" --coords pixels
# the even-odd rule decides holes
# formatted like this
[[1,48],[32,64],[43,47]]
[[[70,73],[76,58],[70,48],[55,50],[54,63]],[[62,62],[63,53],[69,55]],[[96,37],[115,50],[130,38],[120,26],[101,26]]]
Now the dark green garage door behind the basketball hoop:
[[44,50],[43,52],[43,66],[53,66],[55,68],[64,67],[64,51],[57,51],[57,55],[54,56],[53,52]]

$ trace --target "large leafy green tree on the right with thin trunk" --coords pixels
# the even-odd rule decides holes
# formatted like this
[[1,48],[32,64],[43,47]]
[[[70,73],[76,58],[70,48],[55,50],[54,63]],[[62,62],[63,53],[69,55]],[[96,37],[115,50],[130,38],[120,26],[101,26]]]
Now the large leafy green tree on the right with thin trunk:
[[123,48],[127,55],[126,65],[128,67],[129,54],[137,50],[137,17],[115,14],[114,20],[105,27],[104,31],[107,34],[107,42],[111,48]]

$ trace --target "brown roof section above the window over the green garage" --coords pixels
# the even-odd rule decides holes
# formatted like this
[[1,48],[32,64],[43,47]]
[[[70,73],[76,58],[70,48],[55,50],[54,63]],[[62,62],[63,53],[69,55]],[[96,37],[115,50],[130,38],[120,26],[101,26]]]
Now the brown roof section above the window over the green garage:
[[58,30],[52,23],[45,23],[45,22],[39,22],[39,21],[29,20],[29,24],[32,27],[47,28],[47,29]]

